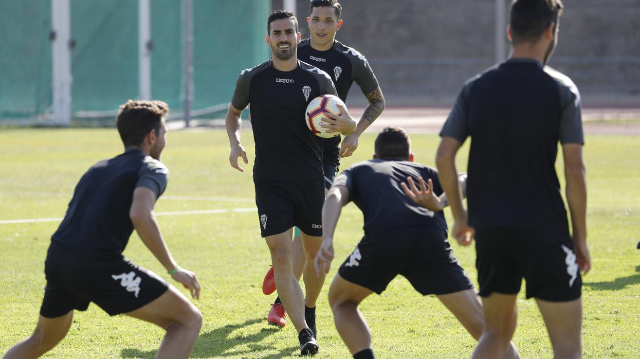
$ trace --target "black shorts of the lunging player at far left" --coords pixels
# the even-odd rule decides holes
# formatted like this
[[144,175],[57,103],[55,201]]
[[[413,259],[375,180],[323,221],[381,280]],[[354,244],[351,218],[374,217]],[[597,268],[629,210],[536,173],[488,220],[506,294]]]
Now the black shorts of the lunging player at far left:
[[68,266],[47,260],[47,286],[40,315],[55,318],[71,310],[86,310],[90,302],[109,315],[131,312],[164,294],[168,284],[152,271],[127,259],[100,269]]

